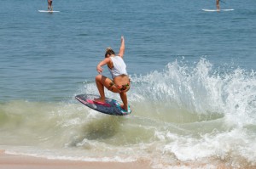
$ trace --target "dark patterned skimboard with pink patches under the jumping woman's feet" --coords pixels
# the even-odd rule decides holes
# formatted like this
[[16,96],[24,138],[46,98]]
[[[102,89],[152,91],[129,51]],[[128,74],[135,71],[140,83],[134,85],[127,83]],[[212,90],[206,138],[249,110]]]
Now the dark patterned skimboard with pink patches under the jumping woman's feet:
[[131,114],[130,106],[128,111],[123,110],[119,102],[115,99],[106,98],[105,103],[96,102],[94,99],[100,98],[94,94],[79,94],[75,96],[75,99],[79,100],[82,104],[86,105],[90,109],[97,110],[108,115],[129,115]]

